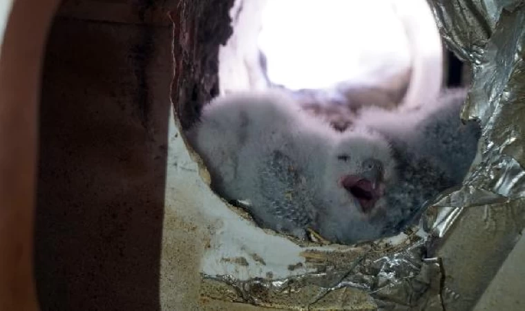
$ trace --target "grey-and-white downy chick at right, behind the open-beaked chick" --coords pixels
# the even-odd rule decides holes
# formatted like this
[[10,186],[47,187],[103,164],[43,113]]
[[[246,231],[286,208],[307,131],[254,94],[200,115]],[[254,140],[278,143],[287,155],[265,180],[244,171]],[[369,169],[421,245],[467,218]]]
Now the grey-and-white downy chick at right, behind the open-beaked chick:
[[382,133],[392,146],[397,182],[385,192],[389,208],[385,234],[395,234],[413,220],[425,203],[440,192],[461,185],[477,153],[481,127],[459,118],[467,91],[444,91],[414,111],[362,111],[356,126]]

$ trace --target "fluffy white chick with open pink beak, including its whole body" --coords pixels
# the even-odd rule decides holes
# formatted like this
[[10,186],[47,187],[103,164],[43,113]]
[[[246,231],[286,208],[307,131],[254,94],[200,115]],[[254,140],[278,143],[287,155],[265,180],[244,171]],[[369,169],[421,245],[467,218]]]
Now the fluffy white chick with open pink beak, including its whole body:
[[204,107],[187,133],[227,200],[249,202],[261,227],[336,243],[373,239],[394,180],[390,145],[364,129],[338,133],[280,91],[236,93]]

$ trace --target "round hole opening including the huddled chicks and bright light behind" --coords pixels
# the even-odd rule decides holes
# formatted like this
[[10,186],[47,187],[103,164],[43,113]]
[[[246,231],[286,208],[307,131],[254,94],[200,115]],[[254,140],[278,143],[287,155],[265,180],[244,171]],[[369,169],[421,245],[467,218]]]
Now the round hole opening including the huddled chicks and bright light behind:
[[220,95],[189,131],[212,188],[260,227],[352,245],[417,225],[461,185],[479,124],[459,119],[463,65],[414,3],[236,8]]

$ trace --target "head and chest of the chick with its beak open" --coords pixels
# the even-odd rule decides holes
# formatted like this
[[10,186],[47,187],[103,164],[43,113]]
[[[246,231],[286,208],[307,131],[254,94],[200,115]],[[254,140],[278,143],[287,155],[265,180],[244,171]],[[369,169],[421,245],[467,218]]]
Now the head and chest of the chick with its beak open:
[[365,129],[337,134],[323,179],[315,180],[323,189],[316,227],[321,236],[338,243],[380,238],[389,207],[385,189],[397,179],[390,145]]

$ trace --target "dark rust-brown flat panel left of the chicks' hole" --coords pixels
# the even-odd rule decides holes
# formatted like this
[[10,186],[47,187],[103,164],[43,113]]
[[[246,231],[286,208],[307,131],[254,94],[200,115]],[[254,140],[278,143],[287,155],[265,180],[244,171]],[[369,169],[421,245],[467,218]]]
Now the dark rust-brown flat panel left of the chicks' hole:
[[41,101],[41,310],[159,310],[173,31],[61,12]]

